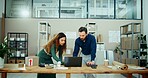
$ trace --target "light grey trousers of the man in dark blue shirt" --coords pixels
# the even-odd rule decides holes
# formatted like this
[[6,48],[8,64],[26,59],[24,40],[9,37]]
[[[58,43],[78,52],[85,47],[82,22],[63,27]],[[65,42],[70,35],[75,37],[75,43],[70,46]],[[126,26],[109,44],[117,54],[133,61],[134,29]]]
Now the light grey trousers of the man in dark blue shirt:
[[[91,55],[80,54],[82,57],[82,64],[86,65],[87,62],[91,61]],[[84,74],[84,78],[95,78],[93,74]]]

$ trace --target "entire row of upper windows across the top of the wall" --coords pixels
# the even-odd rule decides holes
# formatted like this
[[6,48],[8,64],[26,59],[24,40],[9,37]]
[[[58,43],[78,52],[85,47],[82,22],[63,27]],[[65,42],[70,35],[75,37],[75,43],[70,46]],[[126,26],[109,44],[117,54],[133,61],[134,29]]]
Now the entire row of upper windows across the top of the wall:
[[6,18],[142,19],[142,0],[5,0]]

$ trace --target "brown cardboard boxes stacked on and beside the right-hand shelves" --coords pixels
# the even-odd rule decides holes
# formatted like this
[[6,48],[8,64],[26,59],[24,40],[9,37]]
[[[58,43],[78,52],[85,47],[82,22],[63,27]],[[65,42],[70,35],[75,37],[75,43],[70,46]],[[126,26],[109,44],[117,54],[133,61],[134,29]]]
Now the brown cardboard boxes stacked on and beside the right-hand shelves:
[[121,26],[121,50],[123,53],[114,53],[115,61],[124,64],[138,65],[138,59],[133,58],[135,50],[139,50],[139,41],[137,36],[141,33],[140,23],[130,23]]

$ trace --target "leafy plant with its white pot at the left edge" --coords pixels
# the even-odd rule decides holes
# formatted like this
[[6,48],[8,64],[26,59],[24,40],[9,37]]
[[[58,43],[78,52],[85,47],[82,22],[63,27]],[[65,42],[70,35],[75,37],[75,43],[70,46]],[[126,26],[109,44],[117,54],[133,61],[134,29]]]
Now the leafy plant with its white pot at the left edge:
[[4,42],[0,43],[0,68],[4,67],[4,58],[6,54],[11,54],[7,44],[7,36],[4,38]]

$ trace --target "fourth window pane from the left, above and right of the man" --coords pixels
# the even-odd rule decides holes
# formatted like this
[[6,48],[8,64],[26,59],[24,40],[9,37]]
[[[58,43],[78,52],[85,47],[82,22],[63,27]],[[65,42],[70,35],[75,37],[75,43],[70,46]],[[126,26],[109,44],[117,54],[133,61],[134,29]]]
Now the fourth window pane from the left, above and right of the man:
[[89,0],[88,18],[114,18],[114,0]]

